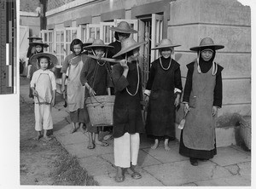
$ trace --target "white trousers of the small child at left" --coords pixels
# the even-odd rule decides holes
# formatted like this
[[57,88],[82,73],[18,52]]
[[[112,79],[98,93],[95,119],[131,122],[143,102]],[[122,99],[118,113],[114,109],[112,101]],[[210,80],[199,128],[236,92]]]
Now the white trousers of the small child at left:
[[50,105],[35,103],[35,129],[36,131],[53,129]]

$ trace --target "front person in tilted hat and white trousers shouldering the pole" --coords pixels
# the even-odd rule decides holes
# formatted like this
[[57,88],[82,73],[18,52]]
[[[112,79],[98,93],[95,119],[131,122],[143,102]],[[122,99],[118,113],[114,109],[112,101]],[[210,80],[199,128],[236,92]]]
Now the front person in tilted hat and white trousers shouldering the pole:
[[125,54],[125,60],[113,66],[115,100],[113,106],[113,154],[117,167],[115,180],[125,180],[125,169],[133,179],[140,179],[136,170],[140,145],[139,133],[144,132],[141,101],[143,101],[142,74],[138,66],[139,47],[132,38],[122,42],[122,49],[113,58]]

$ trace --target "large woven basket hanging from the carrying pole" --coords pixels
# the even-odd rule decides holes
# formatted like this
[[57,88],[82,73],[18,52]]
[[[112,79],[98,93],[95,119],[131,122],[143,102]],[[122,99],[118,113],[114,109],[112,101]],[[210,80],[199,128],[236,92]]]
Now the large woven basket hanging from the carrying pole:
[[114,95],[91,96],[85,100],[92,126],[113,125]]

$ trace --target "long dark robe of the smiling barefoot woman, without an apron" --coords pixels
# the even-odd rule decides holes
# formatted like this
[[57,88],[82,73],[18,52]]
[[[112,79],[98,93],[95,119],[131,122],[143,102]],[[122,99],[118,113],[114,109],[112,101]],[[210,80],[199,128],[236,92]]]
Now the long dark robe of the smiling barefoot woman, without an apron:
[[[164,68],[169,66],[171,58],[161,58]],[[154,60],[150,68],[146,89],[151,90],[146,120],[148,136],[175,139],[174,89],[182,90],[181,73],[177,61],[172,60],[168,70],[160,66],[160,59]]]

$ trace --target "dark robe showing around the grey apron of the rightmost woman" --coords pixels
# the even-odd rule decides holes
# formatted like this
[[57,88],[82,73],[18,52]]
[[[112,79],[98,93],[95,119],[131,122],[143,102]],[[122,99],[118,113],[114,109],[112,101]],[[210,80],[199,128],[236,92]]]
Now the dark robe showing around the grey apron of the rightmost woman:
[[[214,55],[213,55],[213,58],[214,58]],[[204,60],[201,60],[200,58],[200,67],[201,67],[202,73],[206,73],[212,68],[212,60],[206,62]],[[186,79],[185,88],[184,88],[184,94],[183,94],[183,101],[185,102],[189,102],[189,96],[192,91],[193,72],[197,72],[197,70],[195,70],[194,68],[194,64],[195,62],[191,62],[187,65],[188,73],[187,73],[187,79]],[[222,106],[222,77],[221,77],[222,70],[223,70],[223,67],[218,65],[218,72],[216,73],[216,84],[212,94],[213,95],[212,106],[218,106],[218,107]],[[183,130],[182,130],[181,136],[180,136],[179,153],[189,158],[203,158],[203,159],[213,158],[213,156],[217,154],[216,137],[214,138],[214,141],[215,141],[214,148],[212,150],[191,149],[185,146],[183,143]]]

